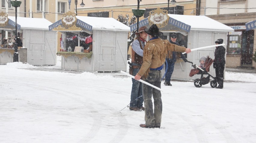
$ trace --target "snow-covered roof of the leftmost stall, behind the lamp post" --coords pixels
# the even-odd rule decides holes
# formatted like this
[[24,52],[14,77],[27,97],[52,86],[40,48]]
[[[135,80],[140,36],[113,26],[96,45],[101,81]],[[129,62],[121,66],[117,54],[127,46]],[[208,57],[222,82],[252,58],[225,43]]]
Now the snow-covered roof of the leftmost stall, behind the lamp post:
[[[8,16],[9,21],[14,21],[15,29],[15,16]],[[52,24],[47,19],[43,18],[29,18],[29,17],[17,17],[17,26],[20,25],[20,29],[41,29],[49,30],[49,25]],[[18,28],[17,28],[18,29]]]

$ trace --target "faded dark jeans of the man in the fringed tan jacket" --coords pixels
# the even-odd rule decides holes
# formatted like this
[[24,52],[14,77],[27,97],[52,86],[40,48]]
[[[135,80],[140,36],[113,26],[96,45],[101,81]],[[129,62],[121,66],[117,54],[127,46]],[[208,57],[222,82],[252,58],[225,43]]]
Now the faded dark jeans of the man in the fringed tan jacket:
[[[161,88],[161,71],[150,70],[146,82]],[[161,99],[161,91],[157,90],[147,84],[142,84],[144,104],[145,104],[145,124],[148,127],[154,127],[154,125],[161,125],[163,104]],[[154,99],[154,111],[152,96]]]

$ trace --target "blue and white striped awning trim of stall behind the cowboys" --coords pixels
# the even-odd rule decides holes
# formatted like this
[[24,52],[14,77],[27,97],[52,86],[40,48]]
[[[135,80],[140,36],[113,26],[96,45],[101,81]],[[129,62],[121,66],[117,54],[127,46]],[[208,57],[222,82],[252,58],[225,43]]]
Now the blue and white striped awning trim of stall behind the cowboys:
[[[142,27],[142,26],[149,26],[148,18],[139,21],[139,27]],[[176,30],[182,30],[182,31],[185,31],[185,32],[189,32],[190,27],[191,27],[190,25],[185,24],[185,23],[183,23],[181,21],[178,21],[176,19],[173,19],[171,17],[169,18],[169,21],[168,21],[168,24],[166,25],[166,27],[168,27],[167,29],[173,30],[173,28],[169,28],[170,26],[172,26],[172,27],[174,26],[174,27],[176,27],[175,28]],[[137,30],[137,23],[132,24],[130,26],[130,29],[131,29],[131,31]],[[166,29],[166,28],[163,27],[163,29]]]

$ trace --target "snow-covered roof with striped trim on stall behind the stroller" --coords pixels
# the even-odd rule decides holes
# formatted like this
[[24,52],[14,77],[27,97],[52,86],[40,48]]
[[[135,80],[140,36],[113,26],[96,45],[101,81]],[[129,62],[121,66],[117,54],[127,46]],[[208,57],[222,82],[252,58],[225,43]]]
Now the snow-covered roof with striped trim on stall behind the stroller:
[[[222,24],[207,16],[188,16],[178,14],[168,14],[169,21],[165,27],[159,28],[161,31],[182,31],[190,32],[190,30],[203,30],[203,31],[225,31],[232,32],[233,28]],[[137,23],[130,26],[130,30],[137,29]],[[139,27],[150,27],[148,18],[139,21]]]

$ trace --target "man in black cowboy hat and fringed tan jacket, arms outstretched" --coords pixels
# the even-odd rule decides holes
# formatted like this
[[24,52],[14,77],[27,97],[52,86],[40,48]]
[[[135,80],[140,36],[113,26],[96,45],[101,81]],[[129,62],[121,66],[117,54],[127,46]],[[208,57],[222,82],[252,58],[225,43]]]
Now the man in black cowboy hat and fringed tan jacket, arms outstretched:
[[[163,33],[159,31],[156,24],[153,24],[149,29],[145,29],[145,32],[149,34],[150,40],[146,43],[143,51],[142,67],[134,78],[139,80],[143,76],[146,82],[161,88],[161,69],[163,68],[167,51],[190,53],[191,50],[171,44],[168,40],[160,39],[159,37]],[[162,118],[161,92],[146,84],[142,84],[142,90],[145,105],[145,124],[140,124],[140,127],[160,128]]]

